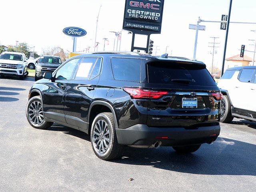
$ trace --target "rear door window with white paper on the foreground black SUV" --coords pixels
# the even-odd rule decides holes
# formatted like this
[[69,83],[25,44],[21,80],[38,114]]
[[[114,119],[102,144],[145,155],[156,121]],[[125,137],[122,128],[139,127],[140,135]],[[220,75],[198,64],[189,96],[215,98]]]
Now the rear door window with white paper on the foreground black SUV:
[[[98,62],[99,60],[99,62]],[[89,80],[93,79],[98,75],[96,72],[94,72],[94,68],[96,67],[97,63],[100,64],[101,59],[98,58],[83,58],[78,70],[76,72],[76,80]],[[99,72],[100,66],[98,66],[98,72]],[[92,78],[92,73],[94,73],[94,77]]]

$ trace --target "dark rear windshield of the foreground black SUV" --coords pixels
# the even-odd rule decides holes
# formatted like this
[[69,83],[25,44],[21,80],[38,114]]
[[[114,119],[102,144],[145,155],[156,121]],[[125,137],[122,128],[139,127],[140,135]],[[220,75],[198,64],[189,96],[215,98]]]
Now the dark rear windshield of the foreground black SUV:
[[216,86],[214,79],[203,65],[191,63],[149,63],[148,82]]

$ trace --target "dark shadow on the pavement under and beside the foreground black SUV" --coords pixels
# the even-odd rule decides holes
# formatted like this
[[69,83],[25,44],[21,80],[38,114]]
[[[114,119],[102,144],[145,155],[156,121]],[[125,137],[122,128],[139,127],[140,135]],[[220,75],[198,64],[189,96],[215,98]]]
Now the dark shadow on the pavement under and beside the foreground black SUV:
[[[52,126],[49,131],[63,131],[90,142],[81,131]],[[177,154],[172,147],[132,148],[124,147],[122,158],[113,163],[147,165],[176,172],[205,175],[252,175],[256,176],[256,145],[219,137],[212,145],[203,144],[193,154]],[[92,154],[93,155],[93,154]]]

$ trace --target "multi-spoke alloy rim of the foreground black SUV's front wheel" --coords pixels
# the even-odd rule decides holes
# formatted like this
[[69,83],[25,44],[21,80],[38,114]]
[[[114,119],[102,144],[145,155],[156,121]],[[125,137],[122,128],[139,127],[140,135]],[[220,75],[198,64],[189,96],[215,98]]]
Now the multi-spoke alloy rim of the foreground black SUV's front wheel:
[[33,101],[28,107],[28,117],[33,125],[41,125],[44,123],[44,115],[42,110],[42,103],[40,101]]

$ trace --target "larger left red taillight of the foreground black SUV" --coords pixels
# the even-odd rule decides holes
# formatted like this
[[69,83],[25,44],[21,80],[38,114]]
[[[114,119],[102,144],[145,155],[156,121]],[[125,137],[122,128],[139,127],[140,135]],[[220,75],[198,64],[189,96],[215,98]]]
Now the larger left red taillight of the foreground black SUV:
[[129,93],[132,99],[160,99],[167,95],[167,91],[152,91],[148,89],[124,87],[124,91]]

